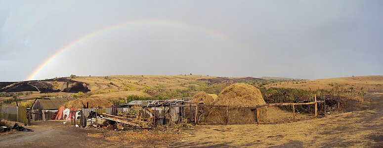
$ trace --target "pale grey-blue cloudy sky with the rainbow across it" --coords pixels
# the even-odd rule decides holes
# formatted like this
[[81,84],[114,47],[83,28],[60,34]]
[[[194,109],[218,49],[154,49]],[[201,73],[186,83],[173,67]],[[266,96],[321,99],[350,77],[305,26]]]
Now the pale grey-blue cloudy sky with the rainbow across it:
[[382,0],[0,0],[0,81],[383,74]]

